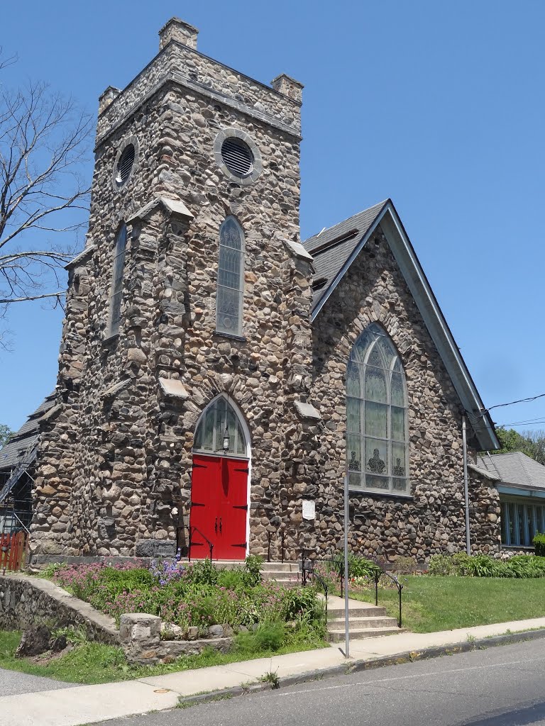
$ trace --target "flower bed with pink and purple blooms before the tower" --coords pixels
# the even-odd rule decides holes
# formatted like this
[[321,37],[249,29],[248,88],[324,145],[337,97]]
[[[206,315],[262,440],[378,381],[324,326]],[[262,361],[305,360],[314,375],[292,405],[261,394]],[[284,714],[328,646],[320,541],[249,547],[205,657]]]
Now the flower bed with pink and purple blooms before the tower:
[[[150,568],[124,563],[60,566],[54,581],[97,610],[119,619],[124,613],[148,613],[181,628],[179,637],[206,635],[213,624],[235,632],[255,624],[315,624],[320,603],[312,587],[287,590],[262,582],[259,558],[243,568],[219,569],[209,560],[164,560]],[[196,631],[195,631],[196,629]]]

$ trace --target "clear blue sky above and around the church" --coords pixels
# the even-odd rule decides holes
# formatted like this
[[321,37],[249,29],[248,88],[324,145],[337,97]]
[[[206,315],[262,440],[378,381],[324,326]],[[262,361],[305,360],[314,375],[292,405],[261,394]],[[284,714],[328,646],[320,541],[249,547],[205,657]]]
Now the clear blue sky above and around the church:
[[[302,237],[392,197],[485,405],[544,393],[543,0],[7,3],[0,44],[19,62],[4,82],[44,79],[96,113],[173,15],[201,52],[304,83]],[[12,310],[0,423],[55,386],[61,317]],[[494,415],[538,417],[545,399]]]

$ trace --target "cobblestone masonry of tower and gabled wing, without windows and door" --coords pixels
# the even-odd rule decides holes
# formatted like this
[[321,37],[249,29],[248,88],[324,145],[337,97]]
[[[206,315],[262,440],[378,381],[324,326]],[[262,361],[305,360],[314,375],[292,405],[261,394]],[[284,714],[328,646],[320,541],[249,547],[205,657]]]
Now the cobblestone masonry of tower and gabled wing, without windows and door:
[[[267,530],[280,525],[288,558],[299,557],[302,542],[331,549],[341,532],[346,360],[374,319],[407,372],[413,499],[354,497],[352,544],[389,558],[459,549],[460,404],[392,256],[384,243],[372,263],[364,251],[311,330],[312,266],[289,244],[299,240],[302,86],[279,76],[268,88],[195,44],[194,28],[167,24],[150,65],[100,99],[89,234],[70,265],[31,560],[174,552],[189,515],[195,423],[221,391],[251,432],[251,552],[265,553]],[[214,139],[233,127],[262,156],[262,173],[245,187],[214,160]],[[130,139],[137,160],[116,189],[113,167]],[[228,214],[246,235],[242,339],[214,332],[218,232]],[[122,322],[108,339],[113,246],[124,221]],[[179,379],[187,399],[166,396],[159,378]],[[307,400],[324,423],[297,415],[296,401]],[[495,492],[473,478],[474,542],[484,550],[497,544]],[[303,521],[303,498],[317,502],[315,521]]]

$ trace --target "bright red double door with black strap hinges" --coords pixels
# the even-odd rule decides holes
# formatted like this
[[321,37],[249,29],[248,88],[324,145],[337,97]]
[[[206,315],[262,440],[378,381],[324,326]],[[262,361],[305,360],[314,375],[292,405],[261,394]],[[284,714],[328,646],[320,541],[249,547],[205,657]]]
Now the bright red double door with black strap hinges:
[[193,456],[191,479],[191,558],[246,557],[248,462],[227,457]]

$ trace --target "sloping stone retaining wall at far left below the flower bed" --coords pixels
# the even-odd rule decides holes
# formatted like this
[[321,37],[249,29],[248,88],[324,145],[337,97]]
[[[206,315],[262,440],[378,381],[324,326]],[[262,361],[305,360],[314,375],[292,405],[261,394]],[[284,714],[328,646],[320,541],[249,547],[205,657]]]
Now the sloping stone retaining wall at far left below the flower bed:
[[113,618],[49,580],[26,575],[0,576],[0,628],[24,629],[41,619],[53,620],[58,627],[84,627],[90,639],[101,643],[119,643]]

